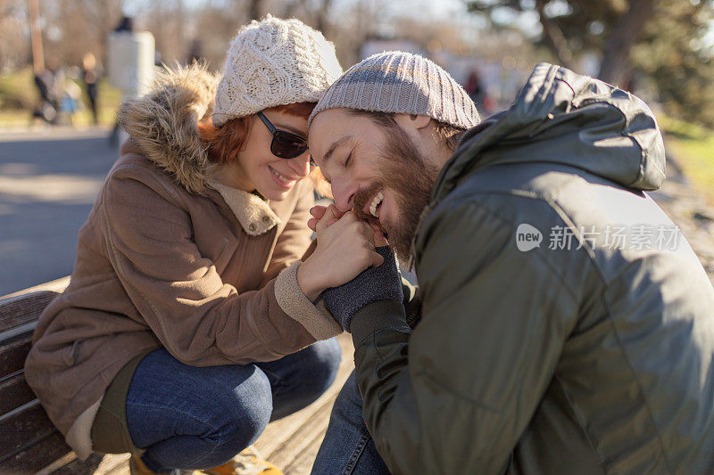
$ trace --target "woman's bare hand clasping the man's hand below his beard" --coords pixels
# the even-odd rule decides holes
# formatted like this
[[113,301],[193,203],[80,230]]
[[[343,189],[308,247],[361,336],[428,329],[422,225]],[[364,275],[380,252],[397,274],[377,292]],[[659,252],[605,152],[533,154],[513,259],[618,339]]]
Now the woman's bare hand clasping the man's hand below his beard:
[[369,266],[384,262],[375,251],[374,229],[352,211],[343,213],[330,205],[312,216],[317,248],[297,270],[297,283],[308,299],[315,300],[325,289],[348,283]]

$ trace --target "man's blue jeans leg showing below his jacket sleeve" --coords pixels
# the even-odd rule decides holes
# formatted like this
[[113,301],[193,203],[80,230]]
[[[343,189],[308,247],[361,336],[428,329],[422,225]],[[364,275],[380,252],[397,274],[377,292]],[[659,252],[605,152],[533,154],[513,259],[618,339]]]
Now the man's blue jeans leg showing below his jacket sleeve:
[[328,431],[312,465],[314,475],[389,473],[362,417],[362,398],[354,372],[332,407]]

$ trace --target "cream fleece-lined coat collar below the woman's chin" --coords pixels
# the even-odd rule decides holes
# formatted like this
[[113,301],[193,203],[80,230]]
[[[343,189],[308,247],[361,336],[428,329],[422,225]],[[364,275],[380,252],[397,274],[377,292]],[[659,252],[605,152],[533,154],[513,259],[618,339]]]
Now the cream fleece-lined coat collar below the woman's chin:
[[245,233],[259,236],[280,224],[280,218],[261,197],[211,180],[209,184],[226,201]]

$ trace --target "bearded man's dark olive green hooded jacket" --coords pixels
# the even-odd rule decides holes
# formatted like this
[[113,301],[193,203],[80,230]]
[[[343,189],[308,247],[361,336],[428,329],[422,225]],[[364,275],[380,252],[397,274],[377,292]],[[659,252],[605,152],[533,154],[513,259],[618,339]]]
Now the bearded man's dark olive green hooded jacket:
[[467,133],[415,237],[421,321],[352,323],[391,471],[714,472],[714,290],[663,179],[647,106],[549,64]]

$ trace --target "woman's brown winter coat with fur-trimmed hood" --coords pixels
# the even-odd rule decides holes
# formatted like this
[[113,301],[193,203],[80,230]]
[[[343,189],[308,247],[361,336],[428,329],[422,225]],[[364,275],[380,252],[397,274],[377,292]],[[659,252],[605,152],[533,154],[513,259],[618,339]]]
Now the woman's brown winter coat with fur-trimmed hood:
[[105,389],[149,348],[195,366],[247,364],[341,332],[295,277],[309,181],[279,202],[212,182],[196,119],[215,85],[178,70],[122,106],[131,140],[79,230],[69,287],[37,325],[27,381],[80,457]]

